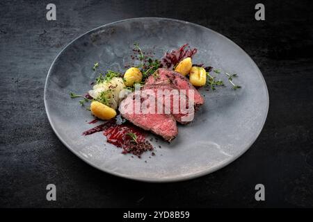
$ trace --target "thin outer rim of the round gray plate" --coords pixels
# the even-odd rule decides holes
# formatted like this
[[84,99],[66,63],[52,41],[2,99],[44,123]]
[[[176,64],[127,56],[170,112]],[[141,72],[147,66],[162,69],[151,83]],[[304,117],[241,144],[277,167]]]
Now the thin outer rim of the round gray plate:
[[246,53],[246,51],[244,51],[238,44],[236,44],[235,42],[233,42],[232,40],[230,40],[229,38],[225,37],[224,35],[217,33],[216,31],[212,30],[211,28],[207,28],[205,26],[201,26],[199,24],[195,24],[193,22],[187,22],[184,20],[180,20],[180,19],[171,19],[171,18],[166,18],[166,17],[134,17],[134,18],[129,18],[129,19],[122,19],[122,20],[118,20],[115,22],[110,22],[108,24],[104,24],[102,26],[98,26],[96,28],[90,29],[89,31],[79,35],[78,37],[75,37],[74,40],[72,40],[71,42],[69,42],[68,44],[66,44],[66,46],[63,47],[63,49],[56,55],[56,58],[54,58],[53,62],[51,63],[51,66],[49,67],[49,70],[47,72],[47,76],[46,76],[46,80],[45,80],[45,89],[44,89],[44,103],[45,103],[45,112],[47,114],[50,126],[52,128],[52,130],[54,130],[54,133],[56,134],[56,136],[58,137],[58,139],[61,140],[61,142],[63,143],[63,145],[65,145],[72,153],[74,153],[74,155],[76,155],[77,157],[79,157],[79,159],[83,160],[83,162],[86,162],[87,164],[89,164],[92,167],[95,167],[95,169],[98,169],[99,171],[103,171],[105,173],[109,173],[111,175],[114,176],[118,176],[120,178],[126,178],[126,179],[130,179],[130,180],[136,180],[136,181],[141,181],[141,182],[158,182],[158,183],[162,183],[162,182],[179,182],[179,181],[183,181],[183,180],[191,180],[193,178],[199,178],[201,176],[205,176],[208,175],[209,173],[213,173],[215,171],[218,171],[219,169],[222,169],[223,167],[226,167],[228,164],[231,164],[232,162],[234,162],[235,160],[237,160],[239,157],[241,157],[241,155],[243,155],[243,153],[246,153],[246,151],[248,151],[248,149],[252,146],[252,144],[255,143],[255,141],[257,140],[257,138],[259,137],[260,133],[262,132],[263,128],[264,128],[264,124],[266,122],[267,119],[267,115],[268,115],[268,109],[269,109],[269,95],[268,95],[268,88],[266,85],[266,81],[264,79],[264,76],[262,74],[262,71],[259,70],[259,67],[257,66],[257,64],[255,63],[254,60],[252,60],[252,58],[248,55],[248,53],[246,53],[246,56],[248,56],[248,58],[250,59],[250,61],[252,62],[252,64],[255,65],[255,67],[257,68],[257,71],[259,71],[259,76],[261,77],[264,86],[265,86],[265,91],[266,91],[266,113],[264,115],[264,119],[262,120],[261,126],[257,132],[257,136],[255,137],[255,139],[252,139],[252,141],[250,142],[250,144],[248,144],[248,146],[246,146],[245,149],[243,149],[241,152],[237,153],[236,155],[234,155],[232,157],[232,159],[227,160],[225,162],[223,162],[222,164],[219,164],[215,167],[211,167],[207,170],[204,171],[200,171],[198,173],[193,173],[192,175],[187,175],[187,176],[178,176],[175,178],[141,178],[141,177],[136,177],[136,176],[129,176],[127,174],[123,174],[123,173],[118,173],[115,171],[111,171],[108,169],[102,169],[100,167],[98,167],[97,165],[93,164],[93,162],[88,162],[86,159],[84,159],[81,155],[79,155],[79,153],[77,151],[74,151],[74,149],[71,148],[71,146],[69,144],[67,144],[67,142],[65,142],[65,140],[61,137],[61,135],[59,135],[58,131],[56,130],[53,121],[51,120],[50,114],[49,114],[49,108],[47,105],[47,84],[48,84],[48,79],[49,76],[51,75],[51,71],[52,68],[54,67],[56,61],[58,60],[58,58],[63,54],[63,51],[65,51],[73,42],[75,42],[76,40],[78,40],[79,38],[83,37],[84,35],[88,35],[88,33],[93,33],[94,31],[97,31],[100,28],[104,28],[106,26],[111,26],[113,24],[118,24],[121,22],[127,22],[127,21],[132,21],[132,20],[142,20],[142,19],[161,19],[161,20],[168,20],[168,21],[172,21],[172,22],[180,22],[180,23],[184,23],[184,24],[191,24],[193,26],[197,26],[200,28],[204,28],[207,29],[213,33],[215,33],[216,35],[222,37],[223,39],[225,39],[226,41],[234,44],[234,46],[238,47],[241,51],[243,51],[243,53]]

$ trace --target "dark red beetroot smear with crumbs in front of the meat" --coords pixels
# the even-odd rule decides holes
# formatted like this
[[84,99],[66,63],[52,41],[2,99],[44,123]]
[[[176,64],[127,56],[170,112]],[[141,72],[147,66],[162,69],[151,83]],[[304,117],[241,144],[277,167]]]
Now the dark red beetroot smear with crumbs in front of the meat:
[[[152,144],[145,139],[143,130],[129,123],[117,124],[115,121],[107,121],[106,123],[83,132],[83,135],[90,135],[102,131],[106,136],[107,142],[122,148],[122,153],[124,154],[132,153],[140,157],[143,152],[153,150]],[[134,133],[136,135],[136,141],[134,141],[134,138],[127,135],[128,133]]]

